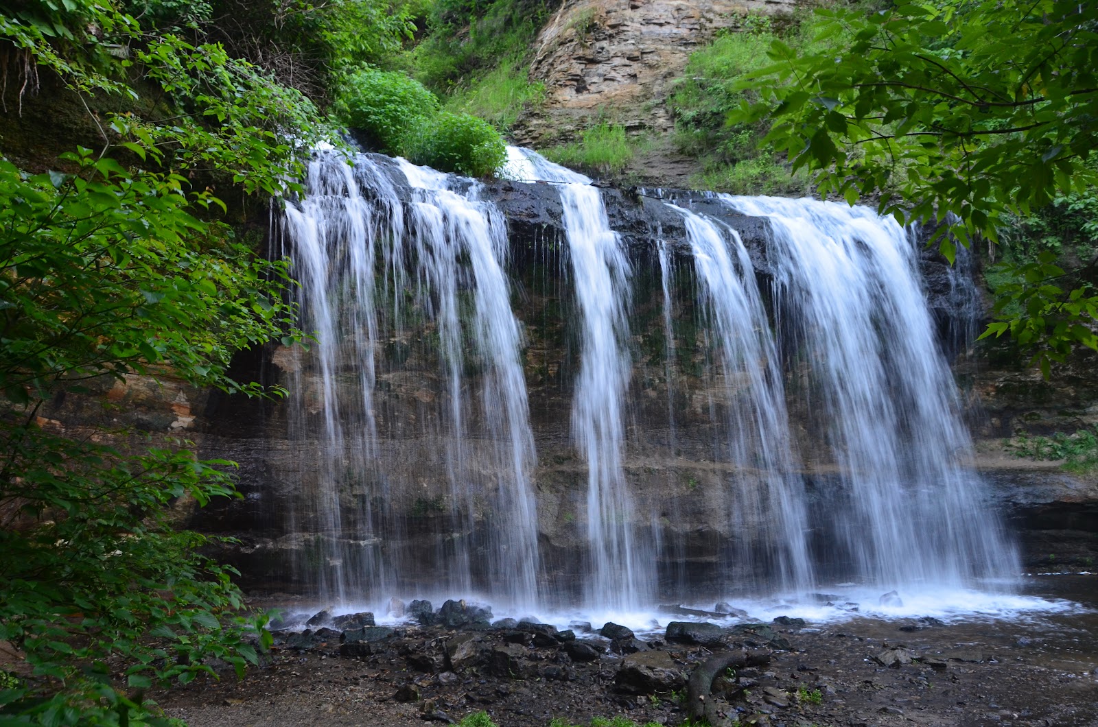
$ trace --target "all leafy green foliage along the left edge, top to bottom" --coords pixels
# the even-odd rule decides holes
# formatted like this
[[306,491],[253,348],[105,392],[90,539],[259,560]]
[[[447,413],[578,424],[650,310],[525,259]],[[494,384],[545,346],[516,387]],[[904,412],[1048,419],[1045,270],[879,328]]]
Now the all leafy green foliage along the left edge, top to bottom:
[[[143,8],[142,23],[182,11]],[[201,37],[191,25],[205,11],[192,10],[170,22]],[[269,644],[262,618],[234,615],[232,569],[198,555],[208,538],[169,517],[179,499],[233,496],[232,463],[93,421],[70,433],[51,417],[66,398],[124,391],[133,374],[271,393],[228,367],[240,348],[299,337],[281,298],[285,266],[234,241],[211,188],[293,189],[284,180],[300,174],[300,149],[328,132],[300,92],[256,66],[110,4],[0,11],[0,36],[29,85],[41,65],[80,92],[137,99],[139,88],[155,101],[134,104],[142,115],[92,116],[103,147],[64,155],[61,171],[0,159],[0,640],[30,670],[0,691],[0,720],[167,724],[145,702],[150,686],[219,662],[240,673]]]

